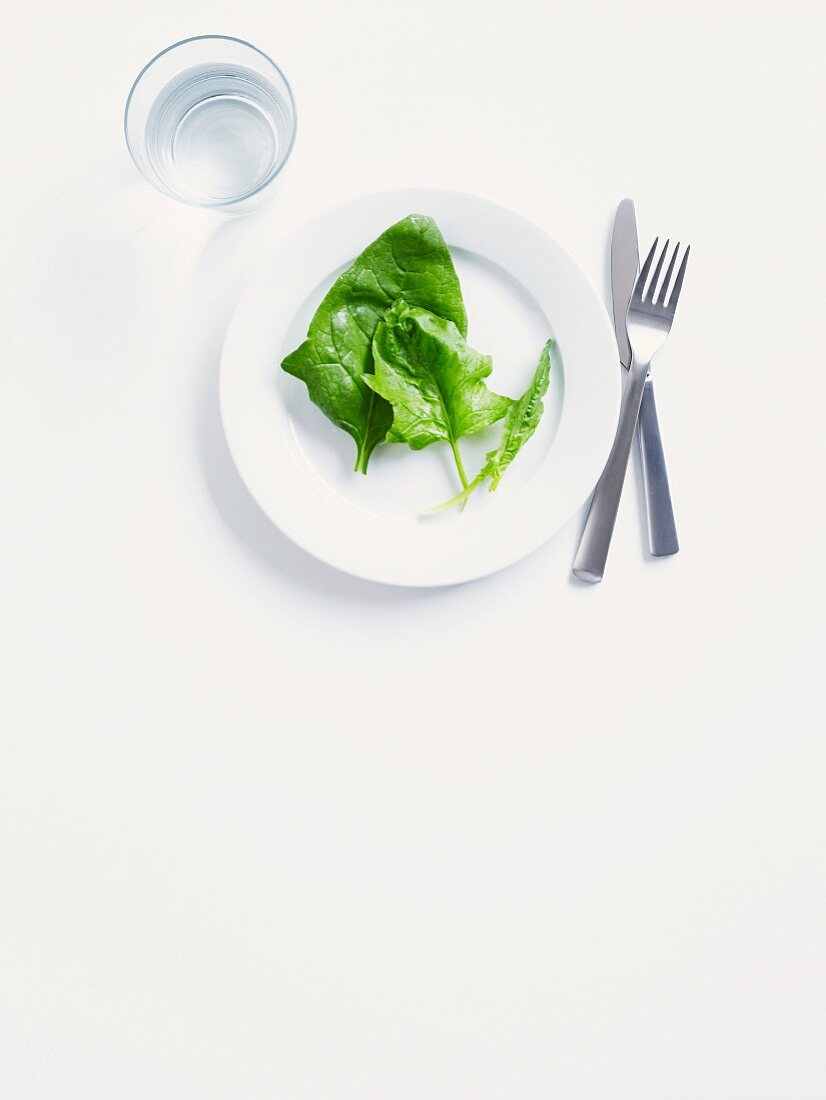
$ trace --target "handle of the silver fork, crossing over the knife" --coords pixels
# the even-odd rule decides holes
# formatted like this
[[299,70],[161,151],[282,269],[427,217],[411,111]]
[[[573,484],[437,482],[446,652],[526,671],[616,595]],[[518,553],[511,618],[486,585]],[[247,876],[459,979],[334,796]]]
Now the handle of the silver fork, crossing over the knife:
[[574,576],[591,584],[597,584],[602,581],[605,572],[605,562],[608,558],[608,547],[617,520],[619,497],[623,495],[623,483],[628,469],[628,457],[631,453],[634,431],[637,427],[648,367],[648,363],[632,362],[628,371],[623,389],[617,435],[614,438],[608,461],[605,463],[605,470],[596,483],[588,518],[585,520],[585,529],[582,532],[580,549],[576,552],[573,568]]

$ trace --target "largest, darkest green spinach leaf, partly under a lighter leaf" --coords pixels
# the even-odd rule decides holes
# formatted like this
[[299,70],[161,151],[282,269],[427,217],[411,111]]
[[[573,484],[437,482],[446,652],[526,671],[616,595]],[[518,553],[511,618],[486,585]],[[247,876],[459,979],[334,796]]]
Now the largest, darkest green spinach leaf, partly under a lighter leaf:
[[310,321],[307,339],[282,363],[310,399],[355,440],[355,469],[367,472],[387,436],[393,409],[365,380],[373,336],[398,298],[432,310],[463,336],[467,315],[448,245],[432,218],[412,213],[390,226],[337,278]]

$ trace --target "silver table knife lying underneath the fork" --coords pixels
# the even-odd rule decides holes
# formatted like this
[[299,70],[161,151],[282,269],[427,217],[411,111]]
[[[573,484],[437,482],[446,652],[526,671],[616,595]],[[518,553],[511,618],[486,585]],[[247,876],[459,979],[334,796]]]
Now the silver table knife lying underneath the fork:
[[[623,199],[614,219],[610,239],[610,290],[614,299],[614,332],[617,338],[619,359],[628,370],[631,362],[631,345],[628,342],[626,316],[634,284],[639,271],[639,246],[637,243],[637,216],[634,199]],[[638,421],[640,454],[642,455],[642,483],[646,493],[646,515],[648,517],[648,544],[656,558],[676,553],[674,509],[671,504],[669,475],[665,455],[660,438],[660,422],[654,404],[654,386],[651,377],[646,380],[642,404]]]

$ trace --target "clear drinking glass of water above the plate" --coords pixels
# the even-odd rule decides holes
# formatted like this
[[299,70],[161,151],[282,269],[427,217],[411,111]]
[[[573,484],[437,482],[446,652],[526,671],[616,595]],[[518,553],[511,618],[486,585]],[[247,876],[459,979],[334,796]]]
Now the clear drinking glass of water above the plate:
[[296,138],[278,66],[249,42],[186,38],[144,66],[126,100],[132,160],[165,195],[245,213],[272,198]]

